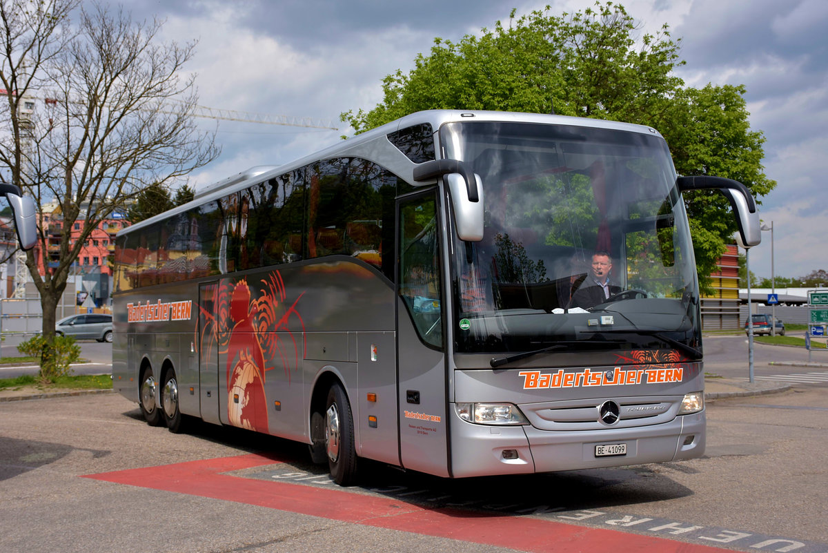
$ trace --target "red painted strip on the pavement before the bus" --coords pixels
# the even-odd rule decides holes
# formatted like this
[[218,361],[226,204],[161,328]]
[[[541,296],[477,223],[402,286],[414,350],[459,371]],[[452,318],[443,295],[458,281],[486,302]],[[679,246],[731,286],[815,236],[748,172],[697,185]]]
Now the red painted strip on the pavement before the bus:
[[659,551],[659,553],[713,553],[729,551],[711,546],[640,536],[604,528],[580,527],[531,517],[503,516],[453,508],[428,508],[393,498],[365,496],[344,489],[254,480],[229,471],[277,464],[277,459],[246,454],[167,464],[146,469],[88,474],[107,482],[141,488],[224,499],[313,517],[352,522],[369,527],[408,531],[426,536],[470,541],[521,551],[575,553],[576,551]]

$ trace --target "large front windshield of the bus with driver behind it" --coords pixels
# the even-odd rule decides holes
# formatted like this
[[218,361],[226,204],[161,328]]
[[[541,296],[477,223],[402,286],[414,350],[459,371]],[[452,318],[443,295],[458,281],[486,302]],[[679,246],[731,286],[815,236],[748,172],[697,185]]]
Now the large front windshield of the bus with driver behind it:
[[451,233],[457,353],[700,358],[696,264],[662,137],[468,122],[441,127],[440,144],[484,190],[483,240]]

